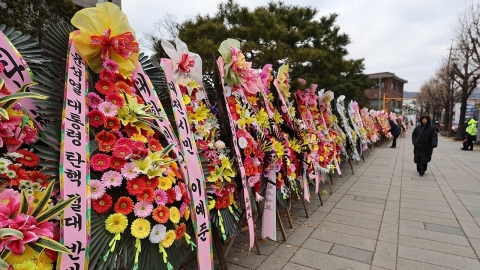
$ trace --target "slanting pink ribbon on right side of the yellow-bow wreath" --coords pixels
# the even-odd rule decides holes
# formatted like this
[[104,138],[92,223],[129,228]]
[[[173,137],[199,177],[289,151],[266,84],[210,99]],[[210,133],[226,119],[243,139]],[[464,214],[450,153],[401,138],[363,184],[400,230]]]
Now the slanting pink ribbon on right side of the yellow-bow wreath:
[[[145,103],[152,106],[152,111],[154,114],[163,118],[156,119],[155,123],[163,131],[163,135],[165,136],[167,143],[175,145],[172,148],[172,151],[175,154],[175,157],[177,158],[180,165],[180,172],[182,173],[184,179],[186,179],[187,169],[185,162],[182,158],[182,151],[180,149],[178,139],[173,132],[172,125],[168,121],[167,114],[165,113],[162,103],[160,102],[160,99],[158,98],[157,93],[153,88],[153,84],[150,81],[150,78],[148,78],[147,74],[145,74],[145,71],[143,71],[142,65],[139,62],[137,62],[135,71],[133,71],[133,78],[135,79],[135,87],[138,89],[138,92],[140,93],[140,96],[143,98]],[[185,181],[188,181],[188,179],[186,179]]]

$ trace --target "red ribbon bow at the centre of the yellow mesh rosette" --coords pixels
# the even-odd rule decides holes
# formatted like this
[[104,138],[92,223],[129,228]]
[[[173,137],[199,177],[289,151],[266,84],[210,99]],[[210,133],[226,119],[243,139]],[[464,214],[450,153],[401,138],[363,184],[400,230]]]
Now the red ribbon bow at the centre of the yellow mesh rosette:
[[110,48],[121,57],[128,59],[132,54],[138,53],[138,42],[131,32],[126,32],[115,37],[110,37],[112,30],[108,28],[100,36],[92,36],[90,44],[103,46],[102,59],[110,59]]

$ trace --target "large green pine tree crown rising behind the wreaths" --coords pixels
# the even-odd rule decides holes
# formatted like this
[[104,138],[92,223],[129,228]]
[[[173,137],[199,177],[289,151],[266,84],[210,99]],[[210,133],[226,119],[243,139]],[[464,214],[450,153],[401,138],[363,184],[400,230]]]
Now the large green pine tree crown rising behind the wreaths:
[[[250,10],[233,0],[221,3],[214,15],[201,16],[177,24],[178,37],[198,53],[206,75],[213,73],[217,49],[227,38],[241,42],[246,60],[255,68],[273,64],[277,70],[288,62],[290,77],[318,84],[347,100],[366,105],[364,90],[371,86],[363,74],[363,59],[348,59],[347,34],[335,25],[337,14],[319,17],[317,9],[271,2]],[[164,52],[152,45],[159,57]]]

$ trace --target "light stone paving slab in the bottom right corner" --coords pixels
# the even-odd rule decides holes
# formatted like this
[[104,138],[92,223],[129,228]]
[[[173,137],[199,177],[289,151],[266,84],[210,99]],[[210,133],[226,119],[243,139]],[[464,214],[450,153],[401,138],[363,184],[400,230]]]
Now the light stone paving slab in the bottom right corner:
[[466,257],[403,245],[398,246],[398,256],[429,264],[437,264],[445,267],[451,267],[454,269],[480,269],[480,261],[478,261],[478,259],[470,259]]

